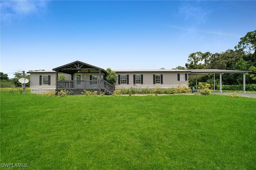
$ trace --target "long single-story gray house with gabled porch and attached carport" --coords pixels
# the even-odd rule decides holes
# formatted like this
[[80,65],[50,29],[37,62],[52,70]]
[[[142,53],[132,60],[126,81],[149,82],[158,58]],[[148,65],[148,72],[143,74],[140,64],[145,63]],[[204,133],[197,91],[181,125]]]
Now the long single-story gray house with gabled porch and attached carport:
[[[60,91],[62,89],[71,90],[74,93],[81,93],[84,89],[88,91],[104,91],[108,94],[121,88],[154,88],[166,89],[177,87],[178,85],[188,87],[189,79],[197,79],[210,73],[219,74],[220,92],[222,92],[222,74],[224,73],[243,73],[244,74],[244,92],[245,92],[245,74],[250,71],[237,70],[219,70],[219,69],[153,69],[153,70],[114,70],[118,75],[116,85],[106,81],[106,70],[74,61],[51,71],[30,71],[30,90],[32,93],[42,94],[46,91]],[[65,80],[58,80],[58,75],[64,74]],[[214,89],[215,90],[215,89]]]

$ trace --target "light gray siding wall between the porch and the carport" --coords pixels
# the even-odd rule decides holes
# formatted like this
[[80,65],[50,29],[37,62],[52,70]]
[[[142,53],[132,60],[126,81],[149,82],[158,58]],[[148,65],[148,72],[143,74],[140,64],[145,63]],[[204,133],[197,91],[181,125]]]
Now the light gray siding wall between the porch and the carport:
[[[169,87],[177,87],[179,84],[181,86],[188,87],[187,81],[178,81],[178,73],[184,74],[184,72],[116,72],[117,75],[129,75],[129,84],[118,84],[118,80],[116,81],[116,89],[121,88],[130,88],[134,87],[133,83],[133,75],[143,75],[143,84],[136,84],[135,87],[139,89],[143,88],[155,88],[160,87],[163,89]],[[188,73],[186,73],[188,74]],[[153,75],[163,75],[163,84],[153,84]]]

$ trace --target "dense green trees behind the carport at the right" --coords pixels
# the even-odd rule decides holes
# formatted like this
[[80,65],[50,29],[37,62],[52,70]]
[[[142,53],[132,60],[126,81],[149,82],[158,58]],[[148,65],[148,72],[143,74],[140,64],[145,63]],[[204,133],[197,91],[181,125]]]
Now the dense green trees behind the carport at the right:
[[[246,75],[246,83],[256,83],[256,30],[248,32],[240,38],[234,49],[227,49],[220,53],[203,53],[201,51],[191,53],[188,56],[188,63],[185,67],[178,66],[175,69],[225,69],[252,71]],[[217,79],[218,80],[218,79]],[[213,85],[213,75],[198,79],[200,82],[207,82]],[[239,85],[243,83],[242,74],[222,75],[224,85]],[[195,80],[190,80],[190,85],[195,85]]]

